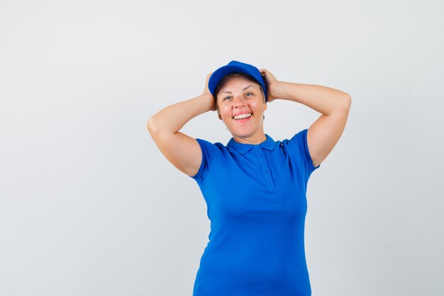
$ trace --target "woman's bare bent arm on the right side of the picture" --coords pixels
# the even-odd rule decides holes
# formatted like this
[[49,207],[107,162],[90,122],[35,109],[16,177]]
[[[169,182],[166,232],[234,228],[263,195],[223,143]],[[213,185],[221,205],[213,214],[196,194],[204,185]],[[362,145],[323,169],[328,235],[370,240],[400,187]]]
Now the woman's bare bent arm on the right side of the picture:
[[267,80],[270,92],[268,102],[286,99],[309,106],[322,114],[307,132],[311,160],[317,167],[333,150],[344,131],[352,102],[350,94],[321,85],[282,82],[265,69],[260,72]]

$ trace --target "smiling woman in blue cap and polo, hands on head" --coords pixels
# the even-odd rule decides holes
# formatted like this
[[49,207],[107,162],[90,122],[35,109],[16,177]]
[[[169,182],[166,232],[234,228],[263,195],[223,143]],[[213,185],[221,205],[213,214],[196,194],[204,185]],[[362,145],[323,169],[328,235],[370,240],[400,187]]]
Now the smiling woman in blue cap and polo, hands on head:
[[[264,132],[274,99],[309,106],[321,116],[289,140]],[[311,295],[304,251],[306,185],[338,142],[351,97],[336,89],[277,80],[270,71],[232,61],[206,77],[204,93],[148,120],[158,148],[194,178],[211,220],[194,296]],[[226,146],[179,132],[217,111],[233,138]]]

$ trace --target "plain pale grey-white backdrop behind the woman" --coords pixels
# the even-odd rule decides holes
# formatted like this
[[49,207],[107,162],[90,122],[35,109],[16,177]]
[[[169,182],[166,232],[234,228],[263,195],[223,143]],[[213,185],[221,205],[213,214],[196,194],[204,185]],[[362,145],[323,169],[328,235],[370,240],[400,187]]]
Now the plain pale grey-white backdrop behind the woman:
[[[231,60],[352,97],[309,180],[313,295],[444,295],[442,1],[0,1],[0,295],[192,295],[206,204],[146,123]],[[268,106],[290,138],[320,114]],[[182,129],[226,144],[215,112]]]

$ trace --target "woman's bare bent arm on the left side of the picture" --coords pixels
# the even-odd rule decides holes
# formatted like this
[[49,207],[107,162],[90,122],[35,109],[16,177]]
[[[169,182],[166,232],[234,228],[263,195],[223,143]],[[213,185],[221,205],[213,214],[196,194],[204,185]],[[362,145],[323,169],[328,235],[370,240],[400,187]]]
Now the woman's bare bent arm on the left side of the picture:
[[148,119],[147,128],[165,158],[189,176],[199,171],[202,153],[196,139],[179,132],[188,121],[207,111],[214,111],[214,99],[206,77],[204,93],[194,99],[167,106]]

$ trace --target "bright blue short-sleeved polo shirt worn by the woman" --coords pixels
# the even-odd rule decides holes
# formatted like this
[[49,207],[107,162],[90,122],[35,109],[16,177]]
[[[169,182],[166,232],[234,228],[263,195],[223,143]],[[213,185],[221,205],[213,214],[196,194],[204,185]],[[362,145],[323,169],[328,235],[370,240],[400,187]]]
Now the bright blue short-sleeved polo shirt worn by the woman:
[[307,129],[290,140],[227,146],[197,138],[198,183],[211,221],[193,296],[309,296],[304,250]]

